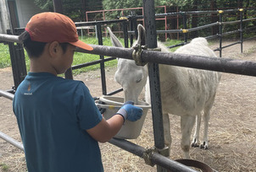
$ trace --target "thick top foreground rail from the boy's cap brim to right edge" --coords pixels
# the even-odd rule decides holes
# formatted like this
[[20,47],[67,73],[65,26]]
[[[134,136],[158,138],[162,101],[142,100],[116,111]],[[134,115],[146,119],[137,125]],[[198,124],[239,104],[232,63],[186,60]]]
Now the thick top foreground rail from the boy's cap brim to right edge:
[[[114,46],[95,46],[93,51],[78,51],[99,54],[105,56],[115,56],[125,59],[132,59],[133,49],[120,48]],[[179,67],[192,67],[204,70],[217,71],[222,73],[235,73],[248,76],[256,76],[256,62],[244,61],[231,58],[211,58],[207,56],[194,56],[176,54],[173,52],[142,51],[142,62],[153,62]]]

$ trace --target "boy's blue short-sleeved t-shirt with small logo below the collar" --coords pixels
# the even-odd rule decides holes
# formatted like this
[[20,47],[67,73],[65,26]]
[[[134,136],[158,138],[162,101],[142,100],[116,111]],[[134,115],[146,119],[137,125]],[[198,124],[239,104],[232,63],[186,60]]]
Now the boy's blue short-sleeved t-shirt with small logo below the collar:
[[86,132],[103,117],[81,81],[28,73],[14,114],[29,172],[103,171],[98,143]]

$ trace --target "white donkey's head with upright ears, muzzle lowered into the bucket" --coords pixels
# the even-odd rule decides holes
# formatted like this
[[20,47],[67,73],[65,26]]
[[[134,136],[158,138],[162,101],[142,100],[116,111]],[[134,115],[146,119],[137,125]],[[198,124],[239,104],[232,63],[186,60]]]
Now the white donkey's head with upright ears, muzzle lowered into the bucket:
[[[138,25],[137,29],[138,39],[134,45],[141,44],[141,46],[145,46],[145,29],[141,24]],[[109,27],[108,30],[112,45],[123,47]],[[125,101],[132,100],[137,104],[138,97],[147,82],[147,67],[137,66],[133,60],[118,58],[118,67],[114,79],[124,89]]]

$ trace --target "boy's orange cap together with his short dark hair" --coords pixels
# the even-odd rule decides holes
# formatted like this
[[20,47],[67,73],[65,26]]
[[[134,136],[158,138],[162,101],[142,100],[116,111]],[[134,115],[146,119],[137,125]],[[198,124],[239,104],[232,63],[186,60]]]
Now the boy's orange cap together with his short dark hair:
[[61,13],[37,13],[25,27],[25,33],[20,36],[30,57],[40,56],[47,43],[58,41],[66,48],[67,44],[92,51],[92,46],[78,40],[74,22]]

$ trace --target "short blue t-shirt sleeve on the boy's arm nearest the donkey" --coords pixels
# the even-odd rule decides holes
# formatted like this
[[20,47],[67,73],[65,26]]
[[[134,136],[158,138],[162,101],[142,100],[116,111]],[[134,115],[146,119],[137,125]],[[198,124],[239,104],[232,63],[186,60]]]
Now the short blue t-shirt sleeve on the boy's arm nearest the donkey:
[[97,124],[102,121],[103,116],[97,109],[89,89],[81,82],[75,94],[77,95],[77,99],[75,98],[76,115],[81,128],[87,130],[97,126]]

